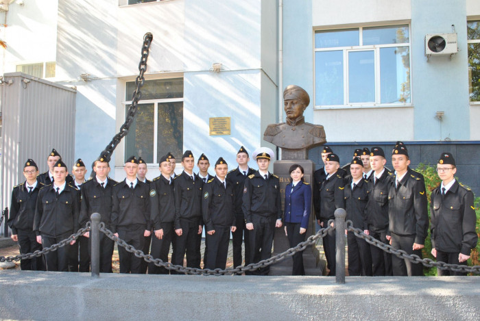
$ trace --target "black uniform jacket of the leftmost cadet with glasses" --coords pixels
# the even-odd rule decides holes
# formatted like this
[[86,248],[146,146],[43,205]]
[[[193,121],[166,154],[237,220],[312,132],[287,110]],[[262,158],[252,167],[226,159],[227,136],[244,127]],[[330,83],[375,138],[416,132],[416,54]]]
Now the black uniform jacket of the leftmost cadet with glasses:
[[16,235],[18,230],[33,231],[36,198],[38,191],[43,188],[42,183],[38,180],[32,194],[25,187],[26,181],[16,185],[12,190],[12,202],[10,203],[10,214],[8,216],[8,226],[12,229],[12,234]]

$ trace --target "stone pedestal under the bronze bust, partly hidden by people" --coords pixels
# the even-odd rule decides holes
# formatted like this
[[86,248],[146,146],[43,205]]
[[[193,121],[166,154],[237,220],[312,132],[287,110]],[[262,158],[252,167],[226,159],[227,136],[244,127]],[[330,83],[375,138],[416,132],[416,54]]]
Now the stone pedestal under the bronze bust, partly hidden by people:
[[[315,164],[309,159],[302,160],[280,160],[274,162],[274,174],[280,179],[280,194],[282,195],[282,211],[285,203],[285,186],[291,181],[289,174],[289,168],[293,164],[299,164],[304,168],[304,180],[313,186],[313,171],[315,170]],[[312,192],[313,194],[313,192]],[[307,239],[310,235],[315,234],[315,211],[313,209],[313,199],[311,206],[311,214],[309,220],[309,228],[307,229]],[[285,235],[285,229],[276,229],[274,237],[274,253],[277,255],[290,248],[287,236]],[[320,253],[315,248],[315,244],[305,248],[303,252],[303,263],[305,268],[305,274],[307,275],[322,275],[325,267],[325,262],[320,260]],[[291,275],[293,261],[291,257],[283,259],[270,266],[270,275]]]

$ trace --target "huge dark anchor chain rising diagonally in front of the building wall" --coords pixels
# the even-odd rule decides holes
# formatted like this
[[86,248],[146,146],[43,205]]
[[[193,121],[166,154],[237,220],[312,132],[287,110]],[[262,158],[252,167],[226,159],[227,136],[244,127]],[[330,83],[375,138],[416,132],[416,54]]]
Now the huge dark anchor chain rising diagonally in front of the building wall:
[[141,59],[139,63],[139,75],[135,79],[136,89],[132,94],[132,105],[128,108],[127,116],[125,119],[125,123],[121,125],[119,132],[113,136],[112,141],[106,146],[106,149],[101,152],[101,156],[107,156],[107,159],[110,159],[112,156],[113,151],[115,151],[115,147],[119,144],[121,139],[128,134],[128,129],[130,125],[132,125],[135,119],[136,108],[139,105],[139,101],[142,98],[142,92],[140,88],[145,83],[145,71],[147,71],[147,59],[149,55],[150,44],[152,44],[152,40],[154,36],[147,32],[145,36],[143,36],[143,46],[141,50]]

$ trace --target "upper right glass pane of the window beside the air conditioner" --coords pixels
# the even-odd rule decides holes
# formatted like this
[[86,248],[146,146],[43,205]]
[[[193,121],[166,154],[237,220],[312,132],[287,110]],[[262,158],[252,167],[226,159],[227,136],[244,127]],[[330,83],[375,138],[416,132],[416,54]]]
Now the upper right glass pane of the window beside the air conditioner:
[[408,26],[363,28],[363,45],[409,42]]

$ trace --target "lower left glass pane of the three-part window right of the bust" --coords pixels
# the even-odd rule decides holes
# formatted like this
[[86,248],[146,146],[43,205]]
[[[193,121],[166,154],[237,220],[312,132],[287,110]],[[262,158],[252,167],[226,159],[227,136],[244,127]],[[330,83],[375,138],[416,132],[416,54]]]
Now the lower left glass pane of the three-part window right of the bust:
[[343,51],[315,53],[315,105],[343,105]]

